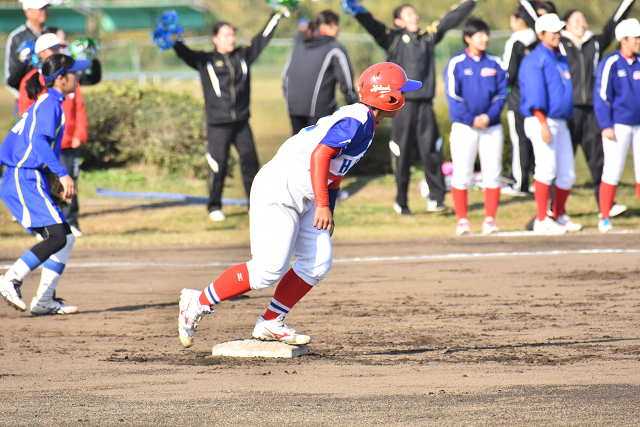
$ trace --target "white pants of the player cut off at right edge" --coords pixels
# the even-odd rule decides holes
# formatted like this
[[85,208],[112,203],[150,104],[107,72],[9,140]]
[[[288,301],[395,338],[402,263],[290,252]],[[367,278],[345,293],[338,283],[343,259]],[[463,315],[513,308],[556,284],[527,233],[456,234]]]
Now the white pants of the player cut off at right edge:
[[604,149],[604,168],[602,169],[602,181],[610,185],[618,185],[624,171],[629,146],[633,153],[633,170],[636,182],[640,182],[640,126],[615,124],[613,131],[616,140],[602,138]]

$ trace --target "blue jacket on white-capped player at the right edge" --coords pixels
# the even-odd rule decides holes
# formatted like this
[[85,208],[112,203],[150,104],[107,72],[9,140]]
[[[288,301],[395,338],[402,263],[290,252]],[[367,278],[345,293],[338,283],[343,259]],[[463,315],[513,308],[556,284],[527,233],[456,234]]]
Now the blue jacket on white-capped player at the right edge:
[[607,56],[598,67],[593,108],[602,129],[614,123],[640,125],[640,56],[631,64],[620,52]]

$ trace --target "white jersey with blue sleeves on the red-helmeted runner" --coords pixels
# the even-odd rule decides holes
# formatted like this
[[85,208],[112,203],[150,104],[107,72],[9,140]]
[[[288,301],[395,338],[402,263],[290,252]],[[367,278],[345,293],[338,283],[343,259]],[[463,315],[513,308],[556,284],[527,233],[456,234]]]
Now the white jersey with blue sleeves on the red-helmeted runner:
[[289,138],[271,162],[277,165],[293,185],[313,199],[309,171],[311,153],[318,144],[340,148],[340,153],[331,160],[329,167],[327,184],[330,184],[349,172],[364,156],[373,141],[375,126],[373,112],[366,105],[358,103],[342,107]]

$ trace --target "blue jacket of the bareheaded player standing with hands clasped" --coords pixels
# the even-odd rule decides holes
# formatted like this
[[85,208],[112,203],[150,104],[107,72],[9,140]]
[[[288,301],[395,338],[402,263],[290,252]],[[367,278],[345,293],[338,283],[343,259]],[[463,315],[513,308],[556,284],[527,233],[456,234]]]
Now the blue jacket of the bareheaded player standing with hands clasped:
[[476,116],[486,114],[490,126],[500,123],[507,99],[507,76],[499,58],[471,56],[464,50],[449,60],[444,83],[452,122],[472,126]]

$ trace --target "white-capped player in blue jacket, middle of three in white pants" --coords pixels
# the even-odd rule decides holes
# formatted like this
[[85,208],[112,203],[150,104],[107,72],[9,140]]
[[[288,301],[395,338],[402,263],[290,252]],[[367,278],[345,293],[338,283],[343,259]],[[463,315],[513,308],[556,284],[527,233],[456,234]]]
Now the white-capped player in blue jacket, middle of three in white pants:
[[[556,14],[541,16],[535,30],[540,44],[520,65],[520,112],[535,155],[537,215],[533,231],[540,234],[575,232],[564,208],[576,179],[573,147],[567,121],[573,118],[573,88],[569,61],[559,51],[565,23]],[[547,216],[551,184],[555,180],[553,218]]]

